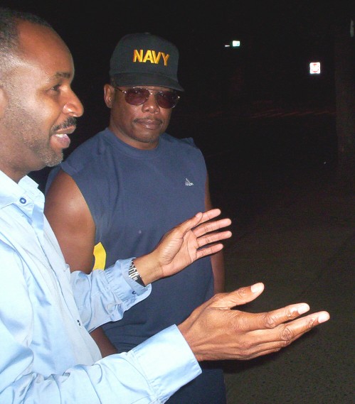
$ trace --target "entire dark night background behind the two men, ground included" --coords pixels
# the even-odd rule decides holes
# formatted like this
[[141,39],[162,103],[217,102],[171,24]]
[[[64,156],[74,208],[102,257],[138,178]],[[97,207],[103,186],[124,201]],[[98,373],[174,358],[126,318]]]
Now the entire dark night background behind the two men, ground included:
[[[228,403],[354,403],[355,1],[207,3],[0,0],[46,18],[73,54],[85,114],[65,154],[108,124],[103,85],[122,36],[149,31],[176,44],[186,91],[167,131],[194,138],[213,204],[233,221],[228,289],[266,280],[255,310],[307,298],[331,312],[280,356],[232,361]],[[233,39],[241,47],[225,48]],[[309,75],[314,61],[321,75]],[[47,173],[31,176],[43,187]]]

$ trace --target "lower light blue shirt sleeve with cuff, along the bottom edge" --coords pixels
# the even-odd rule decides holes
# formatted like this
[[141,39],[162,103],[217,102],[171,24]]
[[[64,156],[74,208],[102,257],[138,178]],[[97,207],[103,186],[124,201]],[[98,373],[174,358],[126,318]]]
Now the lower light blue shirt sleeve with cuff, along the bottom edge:
[[[24,351],[29,350],[23,348],[23,354]],[[26,359],[18,360],[25,365]],[[18,361],[9,361],[6,365],[6,371],[1,374],[0,403],[165,403],[181,386],[201,373],[175,326],[128,353],[107,356],[94,366],[74,366],[63,375],[46,377],[31,372],[33,363],[30,362],[28,356],[28,366],[23,366],[22,376],[18,375]]]

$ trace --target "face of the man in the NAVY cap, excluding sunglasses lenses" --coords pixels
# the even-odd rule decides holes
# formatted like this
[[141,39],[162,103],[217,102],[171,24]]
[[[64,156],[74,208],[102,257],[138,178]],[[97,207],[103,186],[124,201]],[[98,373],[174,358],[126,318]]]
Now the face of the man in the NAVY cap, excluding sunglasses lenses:
[[[149,92],[169,91],[166,87],[139,86]],[[127,90],[129,87],[120,87]],[[110,130],[124,143],[139,149],[157,147],[159,136],[169,125],[171,109],[159,107],[154,94],[144,104],[130,105],[124,93],[109,84],[105,85],[105,102],[111,108]]]

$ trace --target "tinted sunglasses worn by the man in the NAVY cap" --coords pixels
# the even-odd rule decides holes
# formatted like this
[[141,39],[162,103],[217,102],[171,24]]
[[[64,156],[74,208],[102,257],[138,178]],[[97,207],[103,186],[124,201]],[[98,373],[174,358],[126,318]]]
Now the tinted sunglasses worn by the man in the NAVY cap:
[[129,89],[120,89],[115,87],[118,91],[123,92],[124,101],[130,105],[142,105],[147,102],[149,95],[154,95],[159,107],[164,109],[174,108],[178,103],[180,96],[174,91],[158,91],[150,92],[147,88],[132,87]]

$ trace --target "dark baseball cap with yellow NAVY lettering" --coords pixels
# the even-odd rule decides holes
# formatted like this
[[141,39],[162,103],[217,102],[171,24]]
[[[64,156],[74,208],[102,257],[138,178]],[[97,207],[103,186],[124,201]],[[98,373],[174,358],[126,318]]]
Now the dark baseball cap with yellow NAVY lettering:
[[117,86],[157,86],[184,91],[177,79],[179,50],[160,36],[130,33],[117,43],[110,77]]

